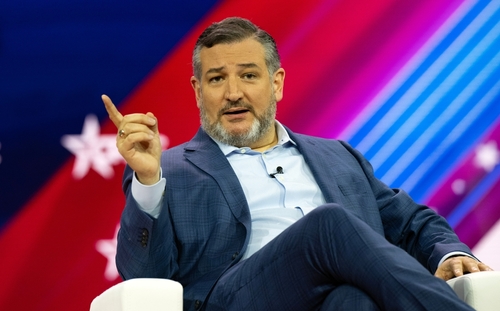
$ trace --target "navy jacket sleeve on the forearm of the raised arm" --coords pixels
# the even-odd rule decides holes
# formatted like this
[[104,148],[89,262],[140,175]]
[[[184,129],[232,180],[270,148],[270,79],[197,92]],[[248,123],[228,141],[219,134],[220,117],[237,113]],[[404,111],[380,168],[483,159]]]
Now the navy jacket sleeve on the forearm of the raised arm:
[[177,248],[169,215],[165,212],[166,203],[162,203],[162,225],[159,226],[158,220],[143,212],[133,198],[133,174],[127,166],[123,176],[126,204],[117,241],[118,272],[125,280],[139,277],[173,278],[178,270]]

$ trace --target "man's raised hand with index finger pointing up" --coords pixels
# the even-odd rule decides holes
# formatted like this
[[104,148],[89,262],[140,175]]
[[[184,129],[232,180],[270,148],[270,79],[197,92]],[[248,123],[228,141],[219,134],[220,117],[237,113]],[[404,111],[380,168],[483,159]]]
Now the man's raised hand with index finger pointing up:
[[160,179],[161,157],[158,120],[151,112],[123,116],[107,95],[102,95],[101,98],[109,118],[118,129],[118,151],[141,183],[156,183]]

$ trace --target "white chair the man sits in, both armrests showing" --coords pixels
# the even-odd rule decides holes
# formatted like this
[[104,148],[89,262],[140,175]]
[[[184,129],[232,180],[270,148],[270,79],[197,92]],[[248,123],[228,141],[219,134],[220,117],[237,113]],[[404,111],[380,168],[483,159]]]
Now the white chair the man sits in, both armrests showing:
[[[448,284],[478,311],[500,310],[500,271],[471,273]],[[90,305],[90,311],[182,311],[182,285],[166,279],[131,279],[121,282]]]

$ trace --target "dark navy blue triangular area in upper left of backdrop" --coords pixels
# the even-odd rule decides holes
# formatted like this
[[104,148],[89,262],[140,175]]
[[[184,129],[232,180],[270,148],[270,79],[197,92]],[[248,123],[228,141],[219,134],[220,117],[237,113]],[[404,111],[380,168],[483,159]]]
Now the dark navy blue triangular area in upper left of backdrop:
[[[217,0],[0,1],[0,229]],[[22,165],[18,165],[22,163]]]

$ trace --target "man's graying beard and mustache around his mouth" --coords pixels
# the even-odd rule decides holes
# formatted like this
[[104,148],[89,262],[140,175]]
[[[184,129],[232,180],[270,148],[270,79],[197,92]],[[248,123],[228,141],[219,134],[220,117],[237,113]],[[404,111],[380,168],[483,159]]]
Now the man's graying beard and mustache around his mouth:
[[[271,126],[274,126],[274,119],[276,117],[276,99],[274,96],[270,99],[270,104],[262,115],[256,115],[253,107],[242,101],[229,102],[221,109],[218,119],[214,123],[210,123],[203,103],[199,107],[201,127],[203,130],[213,139],[223,144],[236,147],[247,147],[259,141],[259,139],[270,130]],[[231,107],[245,107],[255,115],[252,127],[246,133],[233,134],[222,126],[220,122],[222,111]]]

